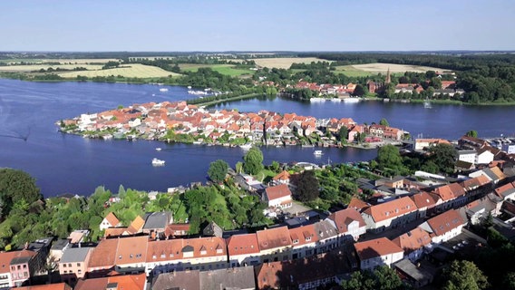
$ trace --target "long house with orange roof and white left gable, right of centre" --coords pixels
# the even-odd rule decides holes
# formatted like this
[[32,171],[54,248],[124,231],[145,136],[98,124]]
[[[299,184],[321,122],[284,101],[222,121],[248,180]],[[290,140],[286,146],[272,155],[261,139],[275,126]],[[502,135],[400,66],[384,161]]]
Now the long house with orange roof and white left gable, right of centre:
[[380,232],[415,220],[417,213],[418,208],[413,200],[403,197],[366,208],[361,216],[366,223],[366,229]]

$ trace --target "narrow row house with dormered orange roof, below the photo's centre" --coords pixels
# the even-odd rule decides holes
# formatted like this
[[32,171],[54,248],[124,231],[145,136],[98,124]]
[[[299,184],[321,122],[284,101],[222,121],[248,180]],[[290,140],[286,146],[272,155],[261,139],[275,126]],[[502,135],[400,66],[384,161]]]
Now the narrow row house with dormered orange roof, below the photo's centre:
[[316,254],[315,247],[318,242],[318,236],[316,236],[314,225],[290,228],[288,231],[293,246],[291,249],[293,259]]

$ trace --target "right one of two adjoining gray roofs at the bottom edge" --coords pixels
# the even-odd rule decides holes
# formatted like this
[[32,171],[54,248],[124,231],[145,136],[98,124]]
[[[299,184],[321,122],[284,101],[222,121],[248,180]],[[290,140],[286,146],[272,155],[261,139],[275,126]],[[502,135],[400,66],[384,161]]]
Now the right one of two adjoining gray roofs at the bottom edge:
[[254,267],[242,266],[200,272],[202,289],[256,289]]

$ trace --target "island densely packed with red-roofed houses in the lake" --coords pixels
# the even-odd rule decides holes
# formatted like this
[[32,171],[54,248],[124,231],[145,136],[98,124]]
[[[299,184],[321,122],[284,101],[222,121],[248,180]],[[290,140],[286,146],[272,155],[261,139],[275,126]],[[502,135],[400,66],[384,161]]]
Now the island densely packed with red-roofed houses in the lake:
[[[316,119],[296,113],[239,112],[207,109],[187,102],[149,102],[58,121],[60,131],[84,138],[144,139],[223,146],[301,145],[374,148],[401,144],[406,131],[379,124],[358,124],[352,118]],[[363,145],[359,145],[363,144]]]

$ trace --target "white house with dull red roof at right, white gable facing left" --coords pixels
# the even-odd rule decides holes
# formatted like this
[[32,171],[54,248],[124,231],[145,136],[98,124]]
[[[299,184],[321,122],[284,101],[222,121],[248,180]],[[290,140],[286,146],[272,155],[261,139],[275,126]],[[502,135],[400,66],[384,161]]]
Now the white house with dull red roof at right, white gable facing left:
[[457,210],[451,209],[428,219],[419,227],[430,233],[433,243],[440,244],[460,235],[466,223]]

